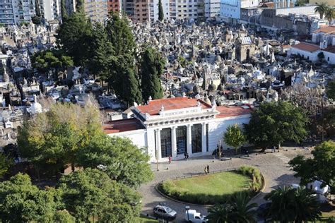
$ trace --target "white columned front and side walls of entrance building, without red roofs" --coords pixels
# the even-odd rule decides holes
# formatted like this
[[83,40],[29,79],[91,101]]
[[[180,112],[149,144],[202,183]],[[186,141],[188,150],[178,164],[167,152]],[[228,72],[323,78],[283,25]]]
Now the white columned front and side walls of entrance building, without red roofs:
[[[135,145],[145,147],[151,162],[166,162],[169,155],[172,159],[184,159],[185,152],[189,157],[211,154],[220,141],[226,149],[228,146],[223,140],[225,129],[235,123],[241,127],[243,123],[248,123],[249,112],[221,116],[216,106],[209,106],[203,101],[201,103],[169,110],[162,106],[159,114],[143,113],[141,109],[134,107],[134,115],[144,128],[108,135],[129,138]],[[167,104],[165,107],[170,106]],[[232,110],[228,113],[233,112],[235,108],[242,109],[231,107]],[[120,123],[119,125],[122,126]]]

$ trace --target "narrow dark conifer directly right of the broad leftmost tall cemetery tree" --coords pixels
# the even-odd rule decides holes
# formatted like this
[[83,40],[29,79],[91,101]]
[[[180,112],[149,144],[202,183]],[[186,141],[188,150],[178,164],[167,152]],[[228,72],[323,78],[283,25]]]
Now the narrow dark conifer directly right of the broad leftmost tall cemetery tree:
[[94,76],[99,76],[102,80],[110,77],[110,63],[114,54],[112,44],[109,42],[107,32],[101,23],[93,25],[92,35],[92,55],[88,68]]

